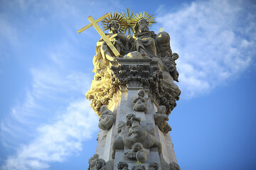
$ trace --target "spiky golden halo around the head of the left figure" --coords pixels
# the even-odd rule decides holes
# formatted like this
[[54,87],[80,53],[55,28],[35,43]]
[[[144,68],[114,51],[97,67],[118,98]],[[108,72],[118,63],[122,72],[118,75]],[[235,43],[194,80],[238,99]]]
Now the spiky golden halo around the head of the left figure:
[[119,12],[113,12],[110,14],[110,16],[102,20],[103,30],[109,29],[110,21],[117,21],[119,23],[119,28],[118,28],[119,33],[122,33],[124,31],[124,18]]

